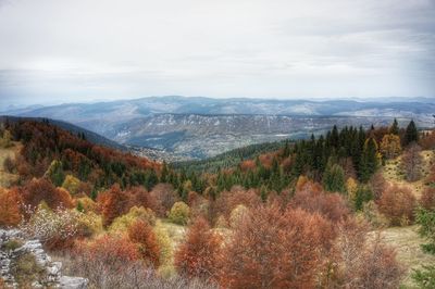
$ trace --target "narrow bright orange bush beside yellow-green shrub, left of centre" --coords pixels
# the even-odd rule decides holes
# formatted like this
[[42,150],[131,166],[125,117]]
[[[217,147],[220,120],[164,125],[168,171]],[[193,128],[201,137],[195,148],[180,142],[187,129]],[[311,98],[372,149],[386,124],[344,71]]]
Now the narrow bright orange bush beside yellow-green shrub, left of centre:
[[137,244],[142,260],[158,267],[160,264],[160,247],[152,227],[142,219],[137,219],[128,228],[128,238]]

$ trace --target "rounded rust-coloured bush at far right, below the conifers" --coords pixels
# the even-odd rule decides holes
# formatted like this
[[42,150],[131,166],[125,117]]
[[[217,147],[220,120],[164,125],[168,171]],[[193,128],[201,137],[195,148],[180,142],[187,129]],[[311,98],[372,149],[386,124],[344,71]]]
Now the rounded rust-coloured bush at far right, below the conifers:
[[390,186],[383,192],[377,204],[391,226],[408,225],[414,219],[415,197],[408,187]]

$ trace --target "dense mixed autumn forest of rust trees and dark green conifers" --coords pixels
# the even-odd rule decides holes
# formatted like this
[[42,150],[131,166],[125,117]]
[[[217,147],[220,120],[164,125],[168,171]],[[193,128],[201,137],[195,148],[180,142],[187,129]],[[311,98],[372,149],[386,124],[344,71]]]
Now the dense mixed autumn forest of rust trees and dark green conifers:
[[[422,156],[435,133],[413,121],[175,165],[48,120],[5,120],[0,137],[15,152],[0,226],[42,240],[91,288],[399,288],[411,273],[376,229],[412,224],[435,253],[435,159]],[[394,162],[401,183],[383,174]],[[434,288],[434,266],[411,275]]]

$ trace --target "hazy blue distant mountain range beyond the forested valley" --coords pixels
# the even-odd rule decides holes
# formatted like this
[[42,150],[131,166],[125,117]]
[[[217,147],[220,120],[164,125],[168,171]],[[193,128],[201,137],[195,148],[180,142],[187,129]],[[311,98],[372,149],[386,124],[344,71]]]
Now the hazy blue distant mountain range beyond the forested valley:
[[[397,117],[433,126],[435,99],[400,101],[151,97],[7,112],[70,122],[123,144],[203,159],[238,147],[320,134],[334,124],[386,125]],[[139,148],[139,149],[138,149]],[[144,150],[146,151],[146,150]],[[145,153],[146,154],[146,153]]]

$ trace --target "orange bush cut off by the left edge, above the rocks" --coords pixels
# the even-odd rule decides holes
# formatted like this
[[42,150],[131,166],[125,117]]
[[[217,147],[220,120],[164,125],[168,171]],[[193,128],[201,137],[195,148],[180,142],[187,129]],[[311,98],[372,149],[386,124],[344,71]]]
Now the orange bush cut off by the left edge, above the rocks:
[[16,189],[0,188],[0,226],[16,226],[21,222],[23,199]]

